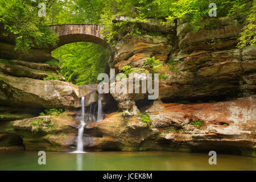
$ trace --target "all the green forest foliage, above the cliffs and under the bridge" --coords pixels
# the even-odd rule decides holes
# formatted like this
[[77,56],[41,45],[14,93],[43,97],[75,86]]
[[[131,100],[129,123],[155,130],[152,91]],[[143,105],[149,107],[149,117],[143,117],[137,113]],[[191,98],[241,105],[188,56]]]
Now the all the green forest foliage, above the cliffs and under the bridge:
[[[117,15],[129,15],[138,20],[158,18],[163,19],[164,24],[183,18],[193,29],[199,30],[207,26],[200,22],[209,16],[209,3],[212,2],[217,5],[216,18],[236,16],[239,23],[245,24],[238,38],[238,48],[255,45],[256,0],[0,0],[0,36],[13,37],[16,48],[26,52],[32,47],[56,45],[58,38],[49,30],[50,24],[98,23],[104,24],[105,38],[111,42],[115,34],[112,19]],[[46,16],[37,15],[39,3],[46,5]],[[97,65],[92,61],[106,63],[108,59],[108,51],[96,44],[68,44],[58,48],[58,52],[53,55],[58,55],[63,75],[75,84],[96,81],[95,77],[90,80],[85,76],[89,74],[77,68],[79,64],[91,70],[104,65],[105,68],[95,69],[93,75],[107,69],[106,64]]]

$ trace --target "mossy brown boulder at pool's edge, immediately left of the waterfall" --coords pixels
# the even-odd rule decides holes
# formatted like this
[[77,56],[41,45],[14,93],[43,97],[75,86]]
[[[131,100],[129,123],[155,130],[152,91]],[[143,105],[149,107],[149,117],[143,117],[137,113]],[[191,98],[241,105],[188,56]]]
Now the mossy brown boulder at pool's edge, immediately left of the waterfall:
[[77,137],[77,122],[71,117],[40,116],[13,122],[14,133],[25,150],[71,151]]

